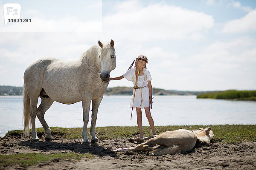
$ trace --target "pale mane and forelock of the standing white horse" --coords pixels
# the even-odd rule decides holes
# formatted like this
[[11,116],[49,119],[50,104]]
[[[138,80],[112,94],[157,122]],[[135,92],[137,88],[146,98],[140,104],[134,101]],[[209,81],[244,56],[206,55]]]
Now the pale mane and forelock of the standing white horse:
[[[111,47],[109,42],[105,42],[102,48],[102,54],[100,56],[105,57],[105,55],[108,53],[109,48],[113,48],[113,47]],[[84,52],[84,54],[82,54],[81,56],[82,61],[86,60],[90,64],[95,65],[97,68],[101,68],[101,63],[99,59],[100,50],[101,50],[101,47],[99,45],[91,46],[87,51]]]

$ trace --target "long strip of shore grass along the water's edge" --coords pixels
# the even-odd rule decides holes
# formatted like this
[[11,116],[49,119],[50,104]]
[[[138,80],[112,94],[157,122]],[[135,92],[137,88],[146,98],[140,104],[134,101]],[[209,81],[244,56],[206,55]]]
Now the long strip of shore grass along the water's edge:
[[[241,142],[256,142],[256,125],[182,125],[182,126],[156,126],[155,130],[157,134],[177,129],[198,130],[201,127],[211,127],[215,134],[213,142],[223,143],[241,143]],[[67,139],[81,139],[82,127],[77,128],[63,128],[63,127],[51,127],[52,136],[60,135]],[[89,128],[87,128],[87,134],[89,135]],[[37,128],[38,133],[44,134],[43,128]],[[22,130],[9,131],[6,136],[21,136]],[[108,140],[116,138],[130,138],[139,136],[139,130],[137,126],[108,126],[108,127],[96,127],[96,134],[99,140]],[[144,136],[150,136],[151,128],[143,126]]]

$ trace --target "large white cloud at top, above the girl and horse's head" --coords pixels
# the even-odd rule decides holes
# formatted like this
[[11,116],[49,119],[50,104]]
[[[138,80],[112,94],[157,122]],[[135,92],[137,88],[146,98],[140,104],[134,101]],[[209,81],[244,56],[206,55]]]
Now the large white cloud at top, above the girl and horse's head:
[[104,30],[123,40],[148,41],[204,37],[212,28],[212,16],[177,6],[156,3],[141,6],[125,1],[118,11],[103,17]]

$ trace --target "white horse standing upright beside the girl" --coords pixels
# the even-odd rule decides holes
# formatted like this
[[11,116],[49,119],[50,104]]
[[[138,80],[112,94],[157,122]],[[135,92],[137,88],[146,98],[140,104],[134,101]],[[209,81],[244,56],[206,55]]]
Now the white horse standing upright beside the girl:
[[[23,122],[24,137],[29,136],[30,122],[33,140],[38,140],[35,131],[37,116],[44,127],[45,139],[52,139],[51,129],[44,119],[44,113],[54,101],[73,104],[82,101],[84,127],[83,143],[87,138],[90,103],[92,101],[91,142],[98,142],[95,124],[99,104],[109,83],[109,74],[116,68],[114,41],[93,45],[75,60],[44,58],[29,65],[24,73],[23,85]],[[42,101],[37,108],[38,97]],[[30,121],[31,119],[31,121]],[[67,120],[68,121],[68,120]]]

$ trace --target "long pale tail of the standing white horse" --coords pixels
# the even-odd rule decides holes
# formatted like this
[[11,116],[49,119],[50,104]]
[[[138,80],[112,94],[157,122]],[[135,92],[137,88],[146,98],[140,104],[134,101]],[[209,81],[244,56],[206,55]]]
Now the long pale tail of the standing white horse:
[[23,90],[22,90],[22,95],[23,95],[23,122],[24,122],[24,133],[23,137],[26,139],[29,137],[29,128],[30,128],[30,99],[28,92],[26,90],[26,85],[24,83],[23,85]]

